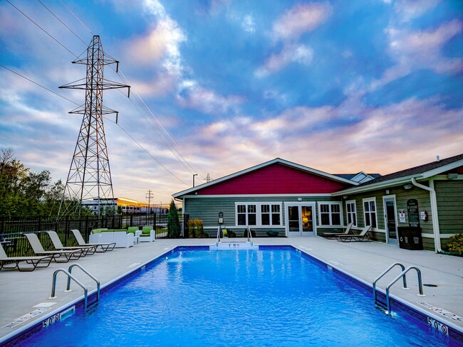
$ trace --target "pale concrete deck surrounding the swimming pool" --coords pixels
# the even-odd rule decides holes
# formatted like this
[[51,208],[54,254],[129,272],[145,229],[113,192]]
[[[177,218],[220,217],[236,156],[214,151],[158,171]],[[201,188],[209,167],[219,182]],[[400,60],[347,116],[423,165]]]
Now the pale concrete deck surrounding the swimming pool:
[[[49,267],[38,268],[33,272],[2,269],[0,271],[0,342],[16,331],[23,330],[32,322],[43,321],[44,317],[62,306],[83,298],[83,290],[76,283],[71,285],[71,292],[64,292],[66,276],[58,274],[57,297],[49,299],[53,272],[58,268],[68,269],[70,265],[77,263],[98,278],[103,287],[113,279],[123,276],[177,245],[214,243],[214,239],[155,240],[130,248],[115,249],[112,252],[96,253],[64,264],[52,262]],[[442,323],[456,326],[463,332],[463,257],[439,255],[430,251],[402,250],[398,246],[381,242],[338,242],[316,236],[255,238],[254,243],[293,245],[369,284],[395,262],[400,262],[405,267],[417,266],[422,272],[423,284],[434,284],[437,287],[423,287],[425,297],[419,297],[416,272],[410,271],[407,274],[410,290],[401,289],[402,281],[399,280],[390,289],[391,297],[407,301],[421,311],[437,316]],[[95,282],[80,269],[73,269],[73,274],[88,287],[89,292],[95,290]],[[395,267],[380,279],[377,287],[384,292],[385,286],[397,274],[400,274],[399,267]],[[430,306],[425,307],[418,304],[419,302],[425,302]],[[371,304],[374,305],[373,299]],[[431,306],[434,306],[434,311],[429,308]]]

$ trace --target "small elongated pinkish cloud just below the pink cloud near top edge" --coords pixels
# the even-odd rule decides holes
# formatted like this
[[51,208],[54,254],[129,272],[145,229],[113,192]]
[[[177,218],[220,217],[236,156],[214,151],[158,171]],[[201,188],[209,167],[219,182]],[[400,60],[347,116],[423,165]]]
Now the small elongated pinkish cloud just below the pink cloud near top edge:
[[310,65],[313,59],[313,49],[305,45],[284,46],[280,53],[272,54],[255,72],[256,77],[265,77],[276,73],[289,63]]

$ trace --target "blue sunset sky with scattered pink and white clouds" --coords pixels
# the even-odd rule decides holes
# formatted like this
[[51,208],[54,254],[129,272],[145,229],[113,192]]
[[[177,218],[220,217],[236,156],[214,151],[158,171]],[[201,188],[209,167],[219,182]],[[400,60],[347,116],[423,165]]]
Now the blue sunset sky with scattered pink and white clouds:
[[0,148],[53,181],[85,102],[58,87],[94,35],[131,86],[103,97],[116,197],[167,203],[277,157],[387,174],[463,153],[461,0],[1,1]]

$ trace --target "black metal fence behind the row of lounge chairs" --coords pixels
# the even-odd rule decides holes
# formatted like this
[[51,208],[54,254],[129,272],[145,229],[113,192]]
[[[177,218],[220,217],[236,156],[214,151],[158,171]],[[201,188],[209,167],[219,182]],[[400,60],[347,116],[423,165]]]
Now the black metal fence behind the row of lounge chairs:
[[[5,217],[0,216],[0,242],[6,255],[21,257],[30,254],[28,241],[23,233],[37,233],[43,248],[53,250],[53,244],[46,230],[58,233],[64,246],[77,245],[71,229],[80,230],[84,240],[88,241],[90,231],[97,228],[126,229],[152,225],[156,230],[156,238],[167,238],[167,215],[156,214],[127,214],[113,216],[85,216],[83,218],[66,217],[56,220],[56,217]],[[179,215],[182,235],[188,237],[188,215]]]

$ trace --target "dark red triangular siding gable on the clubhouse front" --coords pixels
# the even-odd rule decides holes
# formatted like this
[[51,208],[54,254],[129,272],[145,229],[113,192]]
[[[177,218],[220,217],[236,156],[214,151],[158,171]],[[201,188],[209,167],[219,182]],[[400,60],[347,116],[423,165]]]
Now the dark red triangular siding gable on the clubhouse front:
[[283,164],[272,164],[262,169],[244,173],[207,188],[198,195],[234,194],[319,194],[333,193],[350,187],[346,183],[294,169]]

